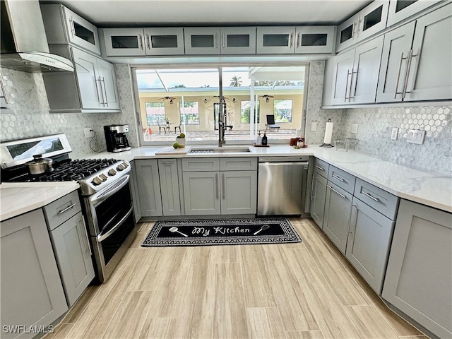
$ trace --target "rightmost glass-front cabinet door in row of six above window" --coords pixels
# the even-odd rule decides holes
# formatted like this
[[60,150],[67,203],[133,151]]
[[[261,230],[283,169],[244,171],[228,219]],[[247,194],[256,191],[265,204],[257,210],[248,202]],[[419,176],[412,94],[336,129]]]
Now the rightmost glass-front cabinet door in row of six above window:
[[335,26],[297,27],[295,53],[333,53]]

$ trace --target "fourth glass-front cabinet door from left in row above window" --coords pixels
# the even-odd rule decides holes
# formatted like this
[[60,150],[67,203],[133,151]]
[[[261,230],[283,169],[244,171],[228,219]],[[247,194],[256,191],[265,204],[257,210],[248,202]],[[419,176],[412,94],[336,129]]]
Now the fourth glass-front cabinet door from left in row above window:
[[256,54],[256,27],[222,27],[221,54]]

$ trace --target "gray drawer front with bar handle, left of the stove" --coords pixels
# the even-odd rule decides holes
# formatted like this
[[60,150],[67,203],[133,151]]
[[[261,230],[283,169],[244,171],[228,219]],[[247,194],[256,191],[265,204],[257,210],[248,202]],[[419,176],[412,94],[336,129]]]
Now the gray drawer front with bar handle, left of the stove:
[[81,211],[82,206],[80,198],[78,198],[78,191],[66,194],[66,196],[44,206],[43,209],[47,227],[49,231],[52,231]]

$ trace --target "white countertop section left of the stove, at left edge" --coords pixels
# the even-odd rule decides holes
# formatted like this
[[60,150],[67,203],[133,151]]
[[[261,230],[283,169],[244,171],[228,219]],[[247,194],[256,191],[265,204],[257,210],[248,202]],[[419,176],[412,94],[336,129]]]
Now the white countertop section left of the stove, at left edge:
[[4,182],[0,184],[0,220],[46,206],[78,187],[77,182]]

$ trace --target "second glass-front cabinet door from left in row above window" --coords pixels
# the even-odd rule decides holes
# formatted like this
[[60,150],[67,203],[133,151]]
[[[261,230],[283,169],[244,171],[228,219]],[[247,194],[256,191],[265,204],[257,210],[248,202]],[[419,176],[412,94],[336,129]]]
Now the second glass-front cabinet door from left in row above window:
[[146,55],[184,54],[184,29],[182,27],[145,28]]

